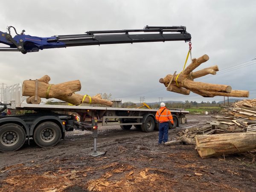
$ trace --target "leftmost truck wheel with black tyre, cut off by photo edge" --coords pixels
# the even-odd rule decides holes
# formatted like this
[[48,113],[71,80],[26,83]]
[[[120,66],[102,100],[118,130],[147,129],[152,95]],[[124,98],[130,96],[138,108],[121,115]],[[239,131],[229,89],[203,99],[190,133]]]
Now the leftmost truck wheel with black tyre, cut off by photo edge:
[[0,126],[0,151],[16,151],[25,143],[24,129],[15,123]]

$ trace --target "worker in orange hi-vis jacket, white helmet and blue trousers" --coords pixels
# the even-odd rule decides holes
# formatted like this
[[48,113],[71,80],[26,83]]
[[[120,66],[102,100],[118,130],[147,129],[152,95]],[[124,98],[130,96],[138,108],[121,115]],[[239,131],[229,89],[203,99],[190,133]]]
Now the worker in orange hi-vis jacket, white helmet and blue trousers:
[[165,107],[165,103],[160,104],[160,109],[157,110],[156,119],[159,126],[159,140],[158,144],[166,143],[168,141],[169,122],[174,124],[172,113]]

